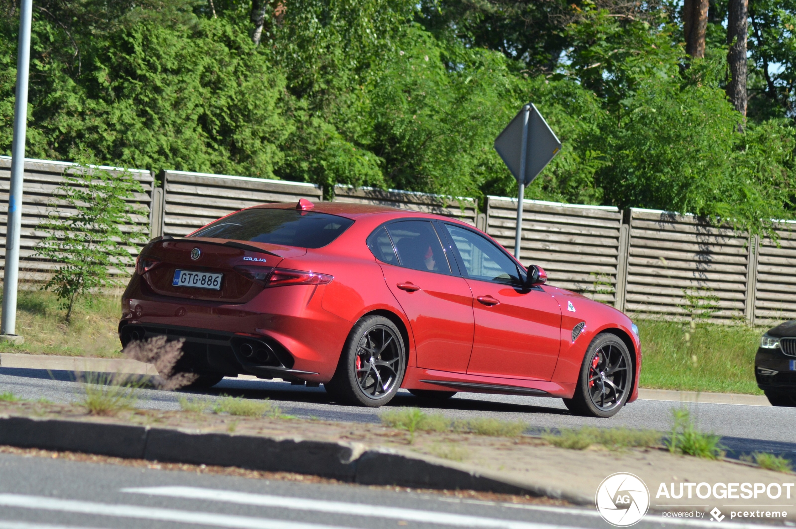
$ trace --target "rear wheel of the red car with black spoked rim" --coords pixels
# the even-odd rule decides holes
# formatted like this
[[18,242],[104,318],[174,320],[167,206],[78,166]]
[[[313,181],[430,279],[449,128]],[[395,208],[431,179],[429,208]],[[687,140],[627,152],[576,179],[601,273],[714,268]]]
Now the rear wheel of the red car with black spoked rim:
[[405,370],[406,348],[396,325],[383,316],[366,316],[351,329],[337,371],[324,386],[335,400],[384,406],[396,395]]

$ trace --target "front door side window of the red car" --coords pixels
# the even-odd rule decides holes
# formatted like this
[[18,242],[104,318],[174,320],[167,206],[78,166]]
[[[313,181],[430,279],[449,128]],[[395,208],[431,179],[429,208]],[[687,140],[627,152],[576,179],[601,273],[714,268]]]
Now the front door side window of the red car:
[[462,257],[467,277],[501,283],[521,284],[520,270],[513,260],[495,247],[489,239],[474,231],[445,224],[445,228]]

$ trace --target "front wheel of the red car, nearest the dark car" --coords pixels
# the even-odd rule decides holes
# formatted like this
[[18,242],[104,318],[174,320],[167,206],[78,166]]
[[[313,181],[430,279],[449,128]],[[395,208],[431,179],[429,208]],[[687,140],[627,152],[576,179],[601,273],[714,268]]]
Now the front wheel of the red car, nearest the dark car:
[[633,361],[625,342],[615,334],[598,334],[583,356],[575,395],[564,399],[564,404],[574,414],[612,417],[630,397],[633,379]]

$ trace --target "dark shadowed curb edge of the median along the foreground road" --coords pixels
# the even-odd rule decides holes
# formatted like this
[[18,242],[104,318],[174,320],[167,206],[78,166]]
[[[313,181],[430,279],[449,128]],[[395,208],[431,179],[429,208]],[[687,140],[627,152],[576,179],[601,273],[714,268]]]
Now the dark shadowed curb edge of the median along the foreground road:
[[529,494],[591,505],[575,491],[506,479],[474,466],[358,443],[200,433],[100,422],[0,417],[0,445],[193,465],[292,472],[365,485]]

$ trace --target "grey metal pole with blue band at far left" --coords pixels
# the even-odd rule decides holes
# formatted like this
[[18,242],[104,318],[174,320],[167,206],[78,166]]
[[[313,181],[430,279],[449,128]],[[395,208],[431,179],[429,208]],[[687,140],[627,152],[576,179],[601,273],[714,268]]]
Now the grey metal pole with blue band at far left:
[[8,196],[6,266],[2,284],[2,322],[0,334],[18,341],[17,280],[19,271],[19,232],[22,224],[22,178],[25,173],[25,128],[28,118],[28,72],[30,67],[30,25],[33,0],[22,0],[19,10],[17,46],[17,95],[14,100],[14,139],[11,145],[11,185]]

